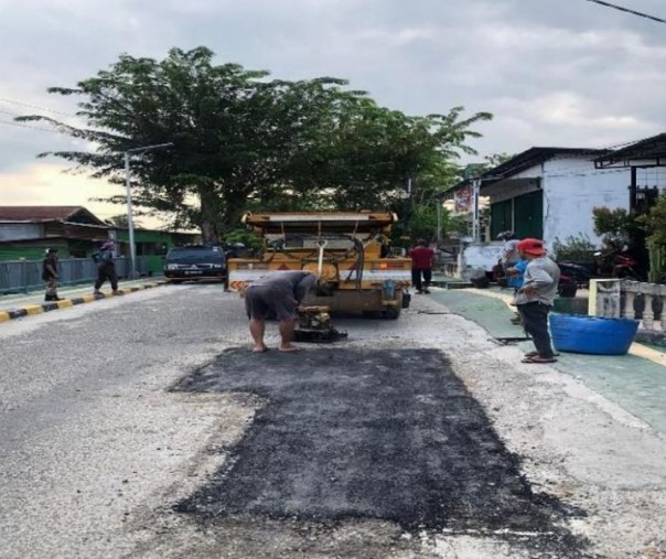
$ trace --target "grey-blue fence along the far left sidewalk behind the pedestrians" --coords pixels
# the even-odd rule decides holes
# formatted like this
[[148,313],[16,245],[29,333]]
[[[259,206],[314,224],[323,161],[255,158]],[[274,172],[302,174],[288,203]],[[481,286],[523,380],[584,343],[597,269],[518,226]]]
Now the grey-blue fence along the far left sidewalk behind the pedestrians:
[[[116,271],[119,278],[131,276],[129,258],[116,258]],[[148,258],[137,258],[137,272],[141,276],[149,271]],[[67,258],[58,262],[58,283],[93,283],[97,278],[97,265],[90,258]],[[44,288],[41,260],[15,260],[0,262],[0,294],[26,293]]]

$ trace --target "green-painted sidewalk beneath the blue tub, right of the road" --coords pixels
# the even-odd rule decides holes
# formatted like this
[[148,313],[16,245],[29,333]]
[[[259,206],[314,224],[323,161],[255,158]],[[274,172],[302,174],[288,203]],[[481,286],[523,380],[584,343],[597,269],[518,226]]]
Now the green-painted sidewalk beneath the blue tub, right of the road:
[[[523,329],[509,322],[514,316],[514,308],[508,305],[509,291],[498,288],[431,288],[431,291],[423,297],[476,322],[500,343],[513,343],[526,352],[534,350]],[[627,355],[561,353],[557,363],[549,366],[582,380],[634,417],[666,433],[665,353],[634,343]]]

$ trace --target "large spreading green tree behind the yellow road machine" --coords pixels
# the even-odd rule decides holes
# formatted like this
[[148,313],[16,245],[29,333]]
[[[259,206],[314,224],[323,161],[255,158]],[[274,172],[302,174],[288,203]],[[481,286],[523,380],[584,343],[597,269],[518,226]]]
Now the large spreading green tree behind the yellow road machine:
[[342,79],[269,79],[213,58],[206,47],[173,49],[162,61],[125,54],[76,87],[49,89],[82,98],[85,127],[37,115],[21,120],[49,120],[92,142],[90,151],[40,157],[64,158],[118,184],[122,153],[171,142],[132,157],[135,203],[214,240],[248,208],[399,207],[409,179],[430,189],[459,152],[473,152],[466,141],[479,135],[470,127],[491,118],[461,119],[462,108],[409,117]]

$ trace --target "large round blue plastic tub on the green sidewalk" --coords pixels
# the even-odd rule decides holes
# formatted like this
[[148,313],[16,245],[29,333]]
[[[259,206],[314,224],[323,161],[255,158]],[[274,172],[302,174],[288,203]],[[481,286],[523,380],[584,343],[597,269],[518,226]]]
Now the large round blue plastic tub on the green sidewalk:
[[552,345],[558,352],[624,355],[629,352],[640,321],[604,319],[580,314],[549,314]]

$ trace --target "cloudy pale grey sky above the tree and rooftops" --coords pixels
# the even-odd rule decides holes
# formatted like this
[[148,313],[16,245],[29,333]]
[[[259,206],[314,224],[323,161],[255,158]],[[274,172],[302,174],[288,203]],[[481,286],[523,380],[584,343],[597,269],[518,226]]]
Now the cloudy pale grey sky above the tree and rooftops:
[[[666,0],[609,1],[666,20]],[[492,112],[474,126],[479,155],[461,164],[666,131],[666,24],[590,0],[0,0],[0,205],[123,214],[90,201],[121,187],[36,158],[89,146],[13,118],[82,125],[79,99],[49,87],[74,87],[122,53],[162,60],[174,46],[207,46],[216,63],[273,78],[345,78],[412,116]]]

